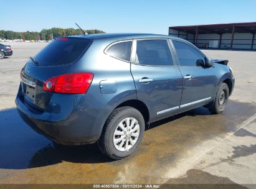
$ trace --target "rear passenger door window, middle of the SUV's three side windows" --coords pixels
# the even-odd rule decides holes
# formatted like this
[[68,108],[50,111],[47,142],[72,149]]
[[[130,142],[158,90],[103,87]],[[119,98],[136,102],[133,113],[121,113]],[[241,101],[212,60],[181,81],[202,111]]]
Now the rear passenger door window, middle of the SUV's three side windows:
[[138,40],[135,63],[156,66],[173,65],[173,58],[167,40]]

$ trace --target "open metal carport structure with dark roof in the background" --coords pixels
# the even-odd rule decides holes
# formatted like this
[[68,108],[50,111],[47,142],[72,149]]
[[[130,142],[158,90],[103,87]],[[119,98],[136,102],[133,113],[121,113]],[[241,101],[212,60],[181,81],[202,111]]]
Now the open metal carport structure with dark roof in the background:
[[169,35],[189,40],[198,47],[209,47],[210,40],[217,40],[215,48],[256,50],[255,34],[256,22],[169,27]]

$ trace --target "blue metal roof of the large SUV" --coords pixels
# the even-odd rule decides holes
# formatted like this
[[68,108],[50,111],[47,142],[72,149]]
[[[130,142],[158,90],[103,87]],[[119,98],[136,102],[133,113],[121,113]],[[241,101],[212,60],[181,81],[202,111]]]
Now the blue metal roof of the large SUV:
[[133,33],[116,33],[116,34],[88,34],[88,35],[73,35],[73,37],[82,37],[88,39],[109,39],[109,40],[126,40],[126,39],[140,39],[140,38],[170,38],[184,40],[172,35],[160,34],[133,34]]

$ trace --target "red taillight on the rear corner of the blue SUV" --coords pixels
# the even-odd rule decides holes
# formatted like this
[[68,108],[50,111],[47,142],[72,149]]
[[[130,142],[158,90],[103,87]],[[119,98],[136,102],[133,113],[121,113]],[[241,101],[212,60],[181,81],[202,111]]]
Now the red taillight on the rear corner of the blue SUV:
[[87,93],[93,80],[93,73],[69,73],[46,80],[44,91],[66,94]]

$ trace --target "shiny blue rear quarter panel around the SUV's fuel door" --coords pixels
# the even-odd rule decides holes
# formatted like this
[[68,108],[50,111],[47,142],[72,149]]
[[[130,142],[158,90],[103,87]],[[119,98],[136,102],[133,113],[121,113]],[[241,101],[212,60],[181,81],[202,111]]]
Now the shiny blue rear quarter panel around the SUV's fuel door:
[[[130,63],[123,62],[110,57],[104,53],[105,48],[111,43],[106,39],[94,40],[83,57],[73,65],[70,65],[67,73],[91,72],[93,81],[84,94],[83,101],[80,101],[82,109],[104,109],[103,114],[97,119],[95,125],[98,127],[107,120],[111,111],[119,104],[130,99],[137,99],[135,84],[130,72]],[[100,83],[109,83],[108,88],[115,88],[110,93],[103,93],[100,90]],[[109,81],[109,82],[108,82]],[[112,91],[112,92],[111,92]],[[92,111],[93,112],[93,111]]]

